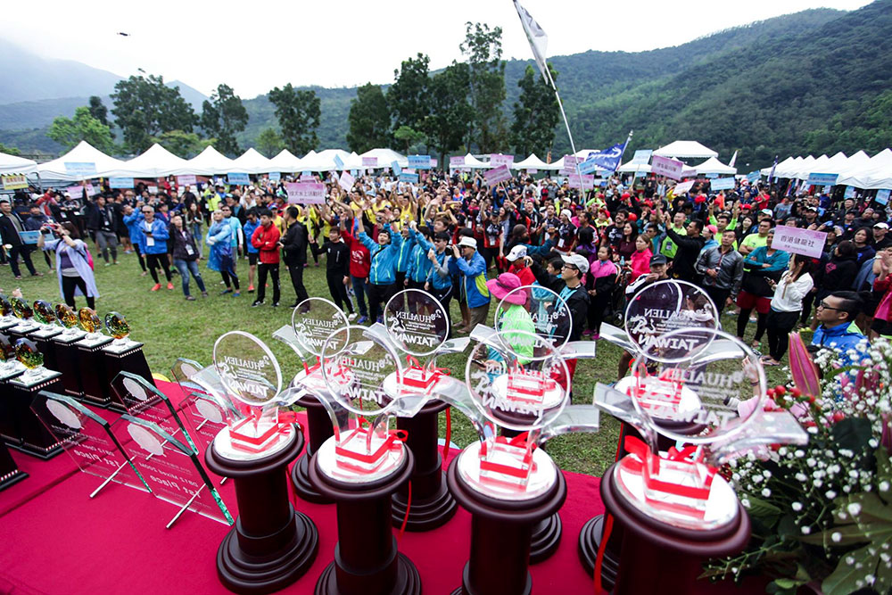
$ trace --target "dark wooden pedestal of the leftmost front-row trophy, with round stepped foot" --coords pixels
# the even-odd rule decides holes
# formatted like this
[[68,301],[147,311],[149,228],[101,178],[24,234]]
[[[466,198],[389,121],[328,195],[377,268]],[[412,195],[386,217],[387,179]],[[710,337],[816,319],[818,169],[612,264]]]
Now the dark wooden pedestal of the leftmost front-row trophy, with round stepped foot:
[[239,510],[217,550],[220,583],[236,593],[279,591],[307,572],[319,547],[316,525],[288,498],[287,466],[303,448],[303,435],[293,428],[284,448],[253,460],[223,456],[220,438],[205,451],[205,460],[211,471],[235,480]]

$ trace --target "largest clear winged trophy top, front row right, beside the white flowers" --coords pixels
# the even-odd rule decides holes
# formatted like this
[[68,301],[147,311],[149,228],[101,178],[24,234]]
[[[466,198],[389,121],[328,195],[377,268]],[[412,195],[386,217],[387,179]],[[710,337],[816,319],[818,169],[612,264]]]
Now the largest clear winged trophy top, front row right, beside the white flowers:
[[[686,343],[689,349],[683,358],[673,354],[663,361],[640,355],[624,393],[596,388],[596,405],[645,437],[644,442],[626,438],[630,454],[614,467],[617,488],[633,506],[669,525],[697,530],[727,525],[739,507],[716,466],[759,445],[805,442],[807,434],[792,417],[764,415],[764,369],[736,337],[714,328],[680,327],[662,338],[666,345]],[[756,408],[739,417],[737,403],[752,397],[758,399]],[[657,433],[684,446],[659,453]]]

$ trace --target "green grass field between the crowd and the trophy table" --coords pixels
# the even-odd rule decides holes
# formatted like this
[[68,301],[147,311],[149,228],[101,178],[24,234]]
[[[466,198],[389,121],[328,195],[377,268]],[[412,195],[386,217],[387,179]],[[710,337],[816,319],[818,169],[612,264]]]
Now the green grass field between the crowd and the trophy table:
[[[28,277],[27,270],[22,267],[26,277],[15,280],[8,266],[0,267],[0,288],[9,293],[15,287],[21,291],[27,301],[45,299],[56,303],[61,301],[59,284],[53,272],[49,272],[40,254],[34,254],[37,270],[44,272],[44,277]],[[286,306],[272,308],[261,306],[251,308],[253,293],[247,293],[248,264],[241,260],[237,272],[242,280],[242,295],[233,297],[219,295],[223,289],[219,285],[219,274],[207,269],[204,261],[199,263],[202,277],[210,292],[210,297],[202,299],[198,288],[192,280],[192,293],[198,299],[186,302],[180,288],[179,277],[174,276],[173,291],[162,289],[152,293],[151,277],[140,277],[139,263],[135,254],[120,255],[120,265],[105,267],[103,260],[95,260],[96,285],[102,294],[96,302],[96,310],[100,318],[110,311],[123,314],[130,324],[131,337],[145,343],[145,357],[153,372],[169,375],[171,364],[178,357],[195,359],[202,364],[211,363],[211,351],[217,337],[227,331],[242,330],[252,333],[267,342],[276,354],[285,378],[293,376],[301,361],[284,343],[272,338],[272,333],[285,324],[290,324],[292,310]],[[294,301],[291,281],[285,272],[282,285],[282,303]],[[304,282],[310,296],[328,298],[325,280],[325,260],[319,267],[310,265],[306,269]],[[267,292],[267,303],[270,293]],[[78,297],[78,308],[86,306],[86,302]],[[459,320],[458,305],[452,301],[452,319]],[[495,310],[491,308],[491,313]],[[726,326],[730,317],[723,318]],[[752,334],[755,325],[750,325],[747,335]],[[574,403],[591,403],[592,392],[596,382],[611,383],[616,379],[616,367],[621,350],[606,341],[598,343],[598,358],[582,360],[576,368],[574,376]],[[438,359],[440,366],[451,368],[453,376],[463,377],[467,352],[450,355]],[[780,367],[767,368],[769,385],[783,384],[789,380],[788,374]],[[601,429],[597,434],[571,434],[558,437],[545,446],[558,466],[568,471],[576,471],[591,475],[602,475],[613,463],[619,424],[611,417],[601,417]],[[443,416],[441,416],[441,436],[445,433]],[[456,413],[452,417],[452,442],[465,446],[475,440],[475,431],[466,419]]]

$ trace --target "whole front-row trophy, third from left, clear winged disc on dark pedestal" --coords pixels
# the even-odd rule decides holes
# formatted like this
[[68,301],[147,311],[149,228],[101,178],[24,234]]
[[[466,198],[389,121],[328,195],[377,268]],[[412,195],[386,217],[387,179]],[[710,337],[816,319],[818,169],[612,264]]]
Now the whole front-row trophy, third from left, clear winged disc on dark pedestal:
[[450,492],[473,516],[470,558],[455,592],[528,593],[534,527],[566,499],[564,477],[541,444],[570,431],[596,431],[599,412],[567,405],[571,381],[563,355],[549,338],[520,328],[476,343],[465,383],[443,384],[440,397],[480,433],[447,474]]

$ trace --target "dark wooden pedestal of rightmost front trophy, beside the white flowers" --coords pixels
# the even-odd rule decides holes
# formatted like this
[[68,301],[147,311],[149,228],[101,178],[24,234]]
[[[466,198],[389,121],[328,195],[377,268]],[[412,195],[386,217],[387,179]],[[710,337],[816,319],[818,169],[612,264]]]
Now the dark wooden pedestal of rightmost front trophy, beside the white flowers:
[[634,508],[618,491],[614,468],[601,478],[601,498],[614,526],[623,525],[623,545],[613,592],[616,595],[661,593],[689,595],[709,558],[738,553],[749,541],[749,516],[737,502],[738,514],[716,529],[682,529],[657,521]]

